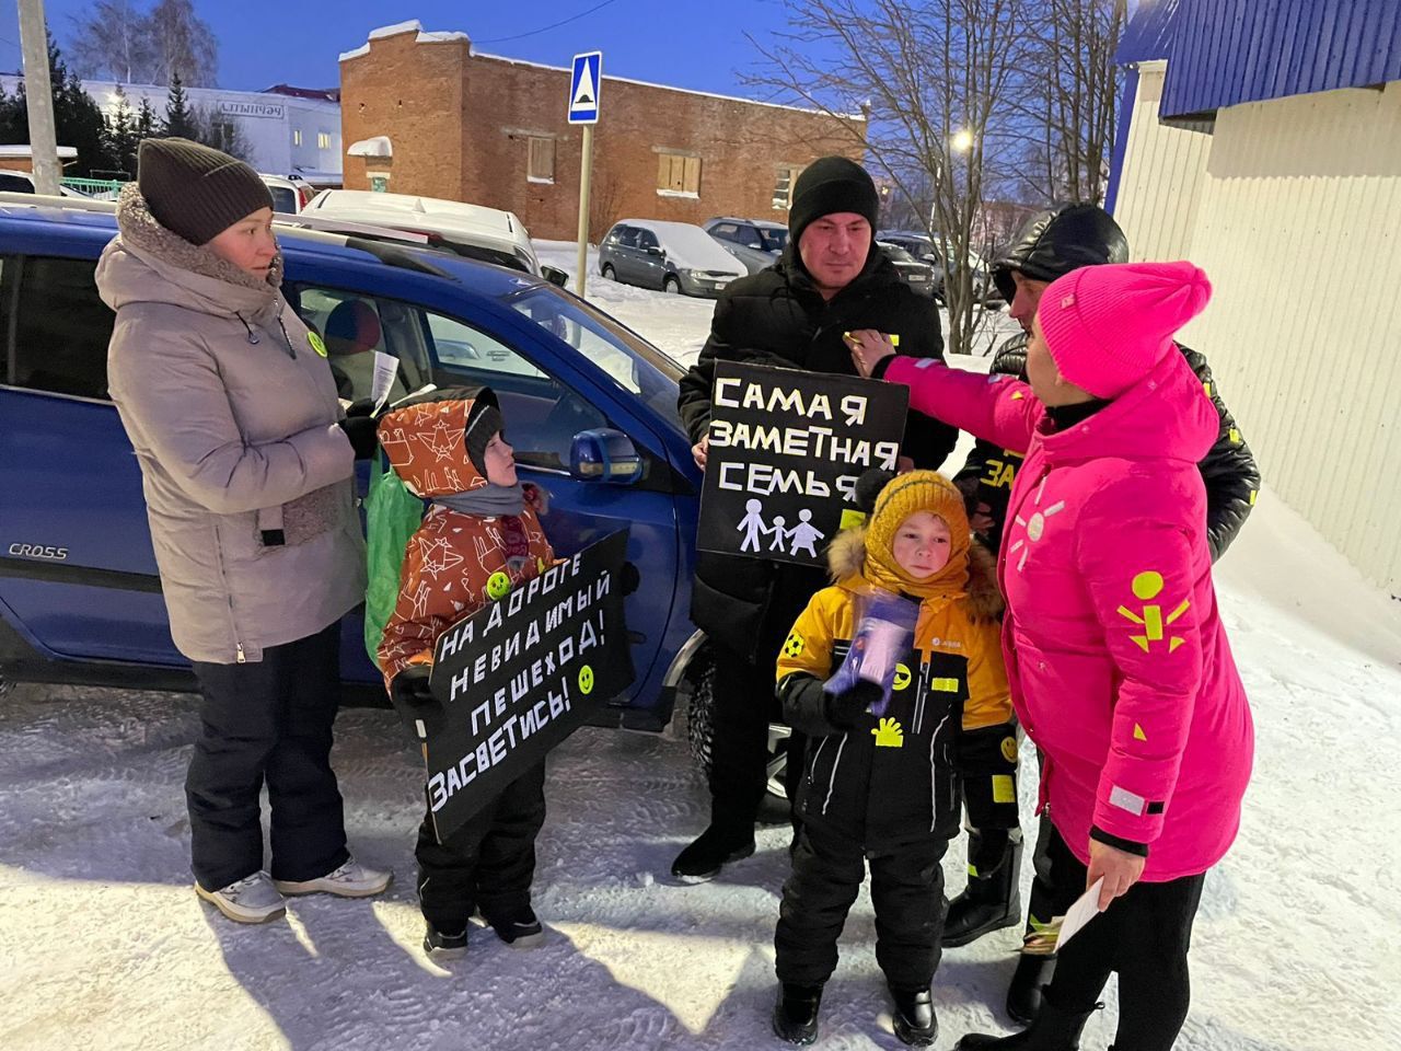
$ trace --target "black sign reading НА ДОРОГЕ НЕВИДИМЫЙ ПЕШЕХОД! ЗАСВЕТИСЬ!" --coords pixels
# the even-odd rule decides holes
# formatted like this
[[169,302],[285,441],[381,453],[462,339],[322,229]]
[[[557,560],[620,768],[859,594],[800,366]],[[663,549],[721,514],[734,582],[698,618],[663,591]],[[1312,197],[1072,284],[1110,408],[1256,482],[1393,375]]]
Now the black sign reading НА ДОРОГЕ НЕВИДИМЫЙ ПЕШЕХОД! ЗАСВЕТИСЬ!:
[[425,747],[439,842],[632,684],[626,551],[628,531],[614,533],[439,636],[444,717]]

